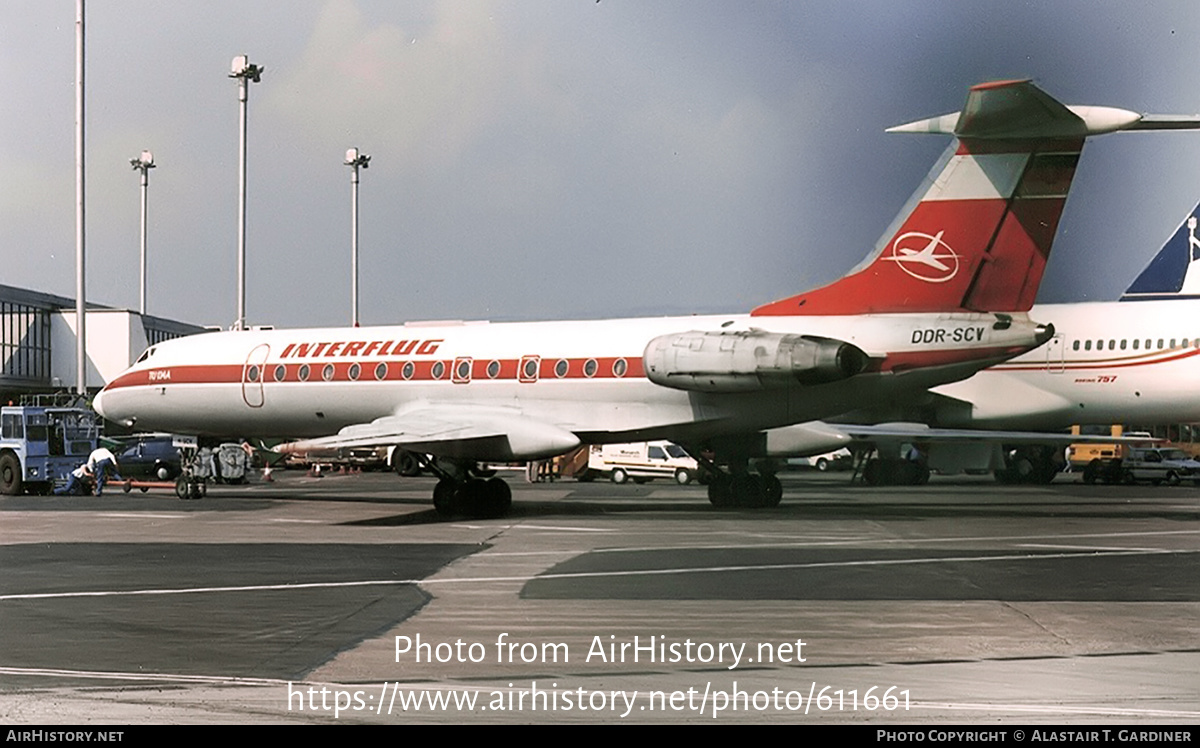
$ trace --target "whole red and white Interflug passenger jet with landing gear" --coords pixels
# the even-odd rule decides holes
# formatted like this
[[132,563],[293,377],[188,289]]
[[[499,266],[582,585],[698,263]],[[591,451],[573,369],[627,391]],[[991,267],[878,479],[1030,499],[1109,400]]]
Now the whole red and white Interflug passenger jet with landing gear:
[[774,504],[779,480],[749,472],[738,435],[911,397],[1052,339],[1026,312],[1084,139],[1162,126],[1026,80],[977,85],[961,113],[894,128],[958,140],[829,286],[749,315],[196,335],[148,348],[95,405],[139,430],[427,453],[442,513],[506,510],[476,461],[658,438],[730,466],[716,503]]

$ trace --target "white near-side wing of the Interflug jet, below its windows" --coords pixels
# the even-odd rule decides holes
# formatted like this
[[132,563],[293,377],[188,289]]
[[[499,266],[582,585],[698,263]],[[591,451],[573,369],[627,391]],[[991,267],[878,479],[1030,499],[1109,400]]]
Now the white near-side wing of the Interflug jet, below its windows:
[[289,451],[400,445],[445,457],[488,462],[532,460],[580,445],[572,432],[523,415],[516,408],[424,403],[334,436],[293,442]]

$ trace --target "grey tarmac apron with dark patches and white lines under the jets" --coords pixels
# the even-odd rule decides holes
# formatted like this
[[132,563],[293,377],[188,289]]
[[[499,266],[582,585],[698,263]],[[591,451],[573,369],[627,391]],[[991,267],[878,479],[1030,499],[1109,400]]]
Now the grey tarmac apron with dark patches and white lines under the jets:
[[0,720],[1200,720],[1200,487],[275,475],[0,498]]

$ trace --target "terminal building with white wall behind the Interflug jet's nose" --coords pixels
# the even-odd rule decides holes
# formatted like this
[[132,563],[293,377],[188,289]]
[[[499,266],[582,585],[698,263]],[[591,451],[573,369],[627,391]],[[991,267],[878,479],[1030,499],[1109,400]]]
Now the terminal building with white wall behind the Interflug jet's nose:
[[[146,347],[209,328],[89,304],[88,391],[125,371]],[[76,390],[76,303],[0,285],[0,402]]]

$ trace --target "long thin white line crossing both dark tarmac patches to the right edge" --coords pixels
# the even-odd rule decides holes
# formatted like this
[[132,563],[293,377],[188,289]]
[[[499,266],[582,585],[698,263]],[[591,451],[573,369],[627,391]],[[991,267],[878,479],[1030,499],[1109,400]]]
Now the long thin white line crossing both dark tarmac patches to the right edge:
[[718,574],[728,572],[785,572],[796,569],[830,569],[839,567],[899,567],[931,563],[979,563],[989,561],[1046,561],[1051,558],[1099,558],[1106,556],[1170,556],[1177,553],[1198,553],[1200,551],[1097,551],[1076,553],[1021,553],[1002,556],[948,556],[944,558],[887,558],[870,561],[815,561],[810,563],[769,563],[749,564],[740,567],[685,567],[677,569],[631,569],[626,572],[571,572],[564,574],[539,574],[534,576],[474,576],[460,579],[383,579],[360,580],[350,582],[302,582],[282,585],[246,585],[226,587],[186,587],[186,588],[162,588],[162,590],[109,590],[91,592],[25,592],[14,594],[0,594],[0,602],[7,600],[44,600],[64,598],[88,598],[88,597],[136,597],[136,596],[167,596],[167,594],[204,594],[210,592],[265,592],[265,591],[292,591],[292,590],[318,590],[336,587],[384,587],[401,585],[461,585],[461,584],[486,584],[486,582],[527,582],[532,580],[559,580],[559,579],[595,579],[604,576],[666,576],[672,574]]

